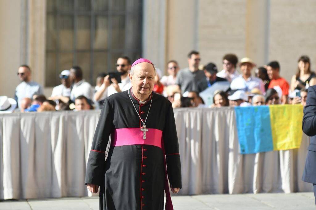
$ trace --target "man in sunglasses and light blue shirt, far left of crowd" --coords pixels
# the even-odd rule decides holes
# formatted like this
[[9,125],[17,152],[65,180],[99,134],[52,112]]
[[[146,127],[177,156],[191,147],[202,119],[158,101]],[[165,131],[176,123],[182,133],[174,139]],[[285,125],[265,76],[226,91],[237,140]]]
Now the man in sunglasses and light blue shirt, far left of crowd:
[[18,106],[23,98],[33,98],[34,95],[42,95],[43,88],[40,84],[31,81],[31,69],[27,65],[21,65],[17,73],[21,83],[15,88],[15,100]]

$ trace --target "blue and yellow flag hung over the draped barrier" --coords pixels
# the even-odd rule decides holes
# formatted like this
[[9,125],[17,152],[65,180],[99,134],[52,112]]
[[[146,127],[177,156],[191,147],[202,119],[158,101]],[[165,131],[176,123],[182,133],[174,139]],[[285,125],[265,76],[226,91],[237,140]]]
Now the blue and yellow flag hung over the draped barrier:
[[241,154],[299,148],[303,106],[235,107]]

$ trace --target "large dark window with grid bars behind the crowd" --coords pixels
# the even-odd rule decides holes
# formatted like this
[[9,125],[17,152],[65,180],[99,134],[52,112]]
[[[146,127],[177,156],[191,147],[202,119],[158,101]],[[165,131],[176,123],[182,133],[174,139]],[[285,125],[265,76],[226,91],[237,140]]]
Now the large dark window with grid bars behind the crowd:
[[58,74],[82,67],[92,85],[98,73],[115,70],[119,56],[142,54],[142,0],[47,0],[45,86]]

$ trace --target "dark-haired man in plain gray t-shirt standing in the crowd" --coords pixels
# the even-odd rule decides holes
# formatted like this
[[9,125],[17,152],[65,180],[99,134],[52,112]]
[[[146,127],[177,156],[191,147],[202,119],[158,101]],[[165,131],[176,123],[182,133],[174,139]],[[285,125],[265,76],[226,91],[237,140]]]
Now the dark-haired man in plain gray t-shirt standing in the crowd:
[[198,70],[200,60],[200,54],[197,51],[191,51],[188,54],[189,67],[181,69],[176,80],[182,94],[186,91],[197,91],[197,84],[205,79],[204,72]]

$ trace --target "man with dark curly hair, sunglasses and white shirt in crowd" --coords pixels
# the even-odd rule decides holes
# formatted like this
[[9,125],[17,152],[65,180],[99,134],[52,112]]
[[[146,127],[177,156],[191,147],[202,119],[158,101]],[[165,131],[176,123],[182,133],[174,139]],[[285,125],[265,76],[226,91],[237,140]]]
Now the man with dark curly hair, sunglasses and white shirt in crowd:
[[236,70],[237,63],[238,58],[235,54],[224,55],[223,70],[217,73],[216,76],[227,79],[228,82],[232,82],[240,75],[240,73],[238,73]]

